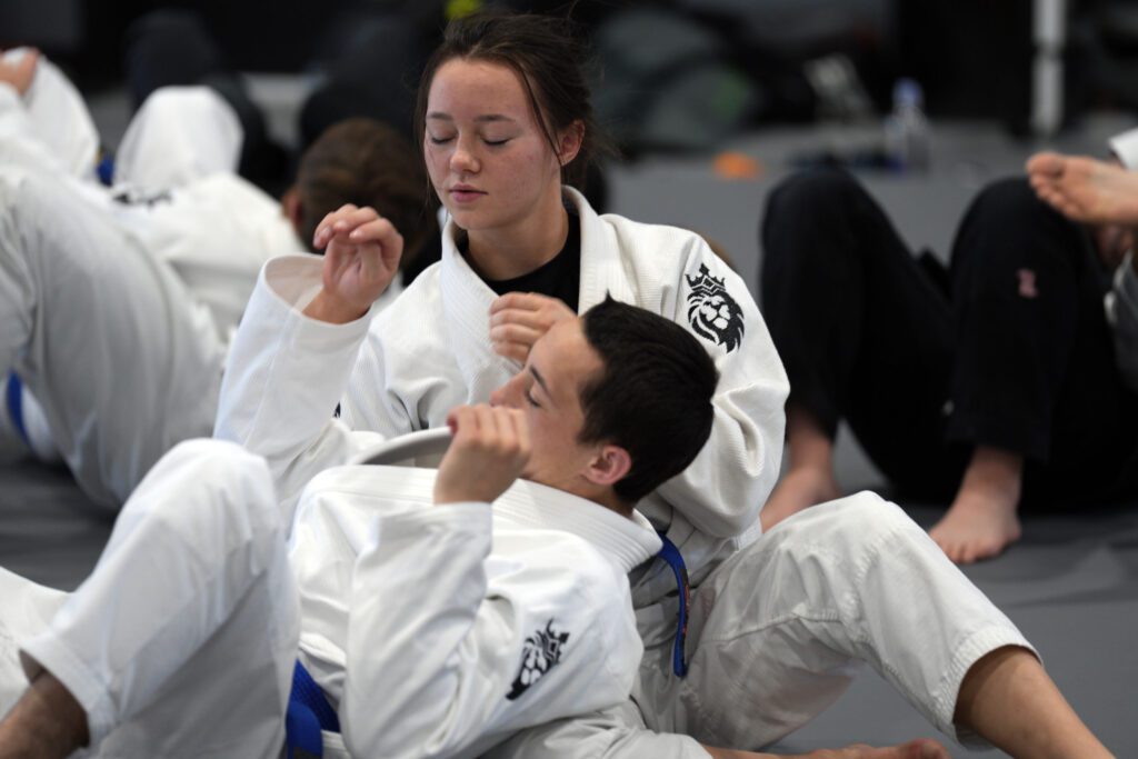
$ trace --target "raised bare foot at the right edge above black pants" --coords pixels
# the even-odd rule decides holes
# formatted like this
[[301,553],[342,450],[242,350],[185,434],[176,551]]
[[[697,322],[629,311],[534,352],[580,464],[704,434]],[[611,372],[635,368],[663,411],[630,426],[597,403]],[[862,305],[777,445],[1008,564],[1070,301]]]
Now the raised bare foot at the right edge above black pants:
[[1040,152],[1028,160],[1028,180],[1041,200],[1072,221],[1138,225],[1138,174],[1116,164]]

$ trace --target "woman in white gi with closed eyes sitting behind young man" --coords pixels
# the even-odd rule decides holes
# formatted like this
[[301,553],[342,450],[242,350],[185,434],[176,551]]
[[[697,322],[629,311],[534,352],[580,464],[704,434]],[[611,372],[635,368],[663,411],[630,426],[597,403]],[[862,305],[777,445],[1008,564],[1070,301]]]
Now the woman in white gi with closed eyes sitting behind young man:
[[[677,635],[673,572],[662,561],[640,567],[630,579],[646,651],[635,704],[550,728],[568,729],[572,740],[531,731],[503,753],[554,756],[562,745],[589,756],[706,756],[691,739],[651,731],[762,745],[828,706],[849,682],[835,675],[838,661],[855,657],[900,673],[904,690],[945,729],[953,729],[954,704],[971,703],[971,696],[957,699],[965,670],[990,661],[997,649],[1046,678],[1019,632],[896,509],[853,500],[753,542],[777,477],[782,366],[742,281],[701,238],[597,216],[569,184],[593,139],[588,92],[574,61],[571,43],[551,19],[479,15],[448,27],[424,71],[418,107],[428,173],[451,214],[443,259],[368,329],[371,302],[398,259],[398,232],[366,208],[327,217],[314,240],[327,246],[323,262],[291,257],[265,269],[250,304],[254,319],[242,323],[246,335],[226,374],[228,385],[241,387],[223,389],[218,435],[265,453],[279,493],[291,498],[322,461],[357,445],[348,426],[390,436],[443,424],[451,407],[485,401],[517,373],[552,323],[611,294],[688,328],[720,373],[709,444],[683,475],[637,504],[678,546],[699,586],[688,638],[684,645]],[[248,366],[238,373],[234,361]],[[528,381],[531,423],[556,423],[539,378]],[[345,389],[343,420],[330,422]],[[665,445],[669,434],[659,430]],[[889,541],[875,539],[883,533]],[[811,550],[823,534],[842,536],[824,555]],[[841,558],[832,563],[833,556]],[[847,560],[920,578],[921,587],[867,592],[873,583],[846,571]],[[825,568],[808,594],[801,584],[781,581],[808,564]],[[764,577],[772,581],[759,588]],[[842,599],[857,599],[866,614],[827,628],[822,643],[809,618]],[[915,618],[959,619],[960,603],[970,624],[987,620],[991,636],[980,649],[922,645],[901,618],[896,629],[883,626],[885,635],[865,622],[917,608],[924,611]],[[791,655],[781,655],[787,645]],[[947,691],[929,692],[906,661],[937,671]],[[1053,685],[1041,687],[1058,695]],[[761,709],[772,703],[782,707]],[[1017,715],[1038,717],[1030,711]],[[984,719],[1008,719],[999,708],[975,721],[959,713],[986,734]],[[1070,718],[1078,723],[1073,712]],[[1057,721],[1083,735],[1071,719]]]

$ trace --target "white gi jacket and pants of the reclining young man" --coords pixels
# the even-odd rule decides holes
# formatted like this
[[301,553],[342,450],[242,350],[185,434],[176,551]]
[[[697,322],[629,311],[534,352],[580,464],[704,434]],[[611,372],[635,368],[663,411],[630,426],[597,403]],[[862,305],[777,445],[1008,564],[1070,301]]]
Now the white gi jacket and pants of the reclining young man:
[[435,506],[434,480],[322,472],[286,558],[263,461],[175,447],[74,594],[0,570],[0,715],[46,667],[88,712],[88,753],[271,758],[298,640],[338,707],[331,759],[475,757],[627,699],[648,521],[525,481],[493,506]]

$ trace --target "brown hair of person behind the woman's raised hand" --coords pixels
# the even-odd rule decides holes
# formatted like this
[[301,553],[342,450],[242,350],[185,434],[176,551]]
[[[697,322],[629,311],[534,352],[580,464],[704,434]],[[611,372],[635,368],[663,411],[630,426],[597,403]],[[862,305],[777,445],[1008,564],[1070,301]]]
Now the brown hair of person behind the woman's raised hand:
[[321,220],[345,204],[371,206],[403,236],[403,261],[412,261],[438,230],[419,151],[394,127],[373,118],[348,118],[324,130],[297,170],[299,233],[305,245]]

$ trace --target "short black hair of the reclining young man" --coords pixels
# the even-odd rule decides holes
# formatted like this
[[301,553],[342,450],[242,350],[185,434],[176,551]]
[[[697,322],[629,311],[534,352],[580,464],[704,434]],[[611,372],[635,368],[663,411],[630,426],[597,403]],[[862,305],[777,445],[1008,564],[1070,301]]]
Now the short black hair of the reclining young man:
[[582,443],[612,443],[632,457],[613,486],[633,504],[684,471],[711,435],[719,372],[691,332],[612,298],[582,317],[603,369],[580,390]]

